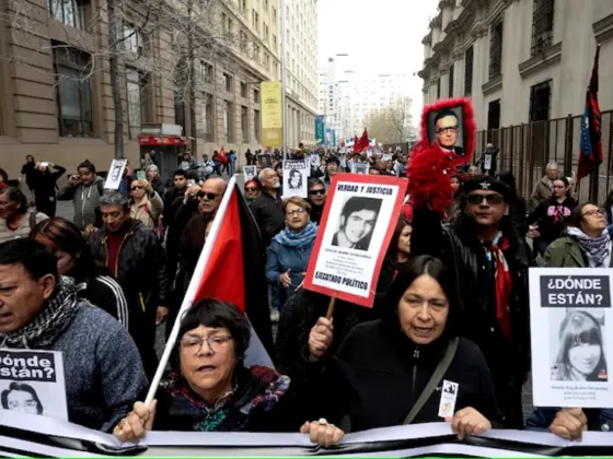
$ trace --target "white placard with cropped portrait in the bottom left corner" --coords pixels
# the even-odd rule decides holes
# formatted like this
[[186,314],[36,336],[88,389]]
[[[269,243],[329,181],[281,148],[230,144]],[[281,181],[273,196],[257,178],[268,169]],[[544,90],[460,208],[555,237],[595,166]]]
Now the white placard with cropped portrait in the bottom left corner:
[[0,400],[2,410],[67,421],[61,353],[0,349]]

